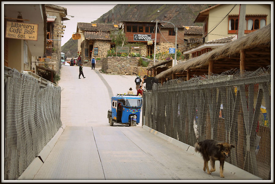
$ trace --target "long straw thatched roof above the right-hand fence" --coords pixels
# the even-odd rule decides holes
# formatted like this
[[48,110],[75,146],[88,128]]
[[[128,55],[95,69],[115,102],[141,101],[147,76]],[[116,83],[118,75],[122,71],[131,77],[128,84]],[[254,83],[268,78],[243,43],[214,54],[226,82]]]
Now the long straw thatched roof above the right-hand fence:
[[221,58],[229,57],[240,53],[242,49],[255,48],[263,45],[270,45],[271,40],[271,25],[266,25],[262,29],[254,31],[246,36],[229,42],[220,48],[214,49],[210,52],[206,52],[201,56],[191,58],[184,63],[177,64],[176,66],[169,68],[156,75],[156,78],[163,78],[175,73],[183,73],[185,70],[191,68],[199,68],[209,64],[210,60],[219,60]]

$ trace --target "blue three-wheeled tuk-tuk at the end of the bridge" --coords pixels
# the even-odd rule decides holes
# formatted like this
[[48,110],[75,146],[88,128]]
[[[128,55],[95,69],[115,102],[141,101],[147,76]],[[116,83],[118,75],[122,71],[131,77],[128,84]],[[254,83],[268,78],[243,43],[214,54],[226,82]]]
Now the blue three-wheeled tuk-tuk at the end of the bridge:
[[108,110],[110,126],[114,123],[136,126],[139,124],[142,97],[135,95],[117,94],[111,98],[112,110]]

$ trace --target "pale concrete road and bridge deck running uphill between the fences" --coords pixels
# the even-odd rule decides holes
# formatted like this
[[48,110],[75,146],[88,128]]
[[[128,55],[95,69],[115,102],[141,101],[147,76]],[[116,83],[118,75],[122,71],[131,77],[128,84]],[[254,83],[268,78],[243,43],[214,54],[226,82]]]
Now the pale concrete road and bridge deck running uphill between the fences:
[[[135,91],[136,76],[99,74],[84,67],[62,66],[59,85],[61,121],[66,128],[35,175],[35,180],[251,180],[246,171],[207,175],[203,159],[184,151],[139,124],[110,127],[110,96]],[[110,88],[108,90],[108,88]]]

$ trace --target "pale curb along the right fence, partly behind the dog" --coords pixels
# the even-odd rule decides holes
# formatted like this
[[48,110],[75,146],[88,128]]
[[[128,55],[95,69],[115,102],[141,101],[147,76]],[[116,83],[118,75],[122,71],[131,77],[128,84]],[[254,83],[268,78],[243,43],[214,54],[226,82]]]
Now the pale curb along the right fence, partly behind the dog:
[[[194,154],[197,157],[201,158],[201,154],[195,152],[195,147],[190,146],[188,144],[185,144],[181,141],[178,141],[177,139],[174,139],[172,137],[169,137],[168,135],[165,135],[165,134],[163,134],[161,132],[158,132],[158,131],[150,128],[150,127],[147,127],[146,125],[143,125],[142,128],[144,128],[146,131],[148,131],[148,132],[150,132],[150,133],[152,133],[152,134],[168,141],[169,143],[172,143],[173,145],[180,147],[184,151],[187,151],[187,152],[189,152],[191,154]],[[203,165],[203,160],[202,160],[202,165]],[[215,167],[220,168],[220,162],[219,161],[215,162]],[[228,162],[225,162],[224,168],[226,168],[226,171],[229,171],[233,175],[236,175],[236,176],[239,176],[239,177],[241,177],[243,175],[249,175],[251,177],[251,180],[262,180],[262,178],[260,178],[258,176],[255,176],[255,175],[253,175],[253,174],[251,174],[251,173],[249,173],[249,172],[247,172],[247,171],[245,171],[241,168],[238,168],[235,165],[229,164]]]

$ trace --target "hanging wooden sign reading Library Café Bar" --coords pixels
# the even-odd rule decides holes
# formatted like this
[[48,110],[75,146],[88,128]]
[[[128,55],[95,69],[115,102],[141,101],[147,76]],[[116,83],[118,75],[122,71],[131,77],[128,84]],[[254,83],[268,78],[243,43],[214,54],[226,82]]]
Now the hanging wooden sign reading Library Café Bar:
[[38,24],[7,21],[6,38],[37,41]]

